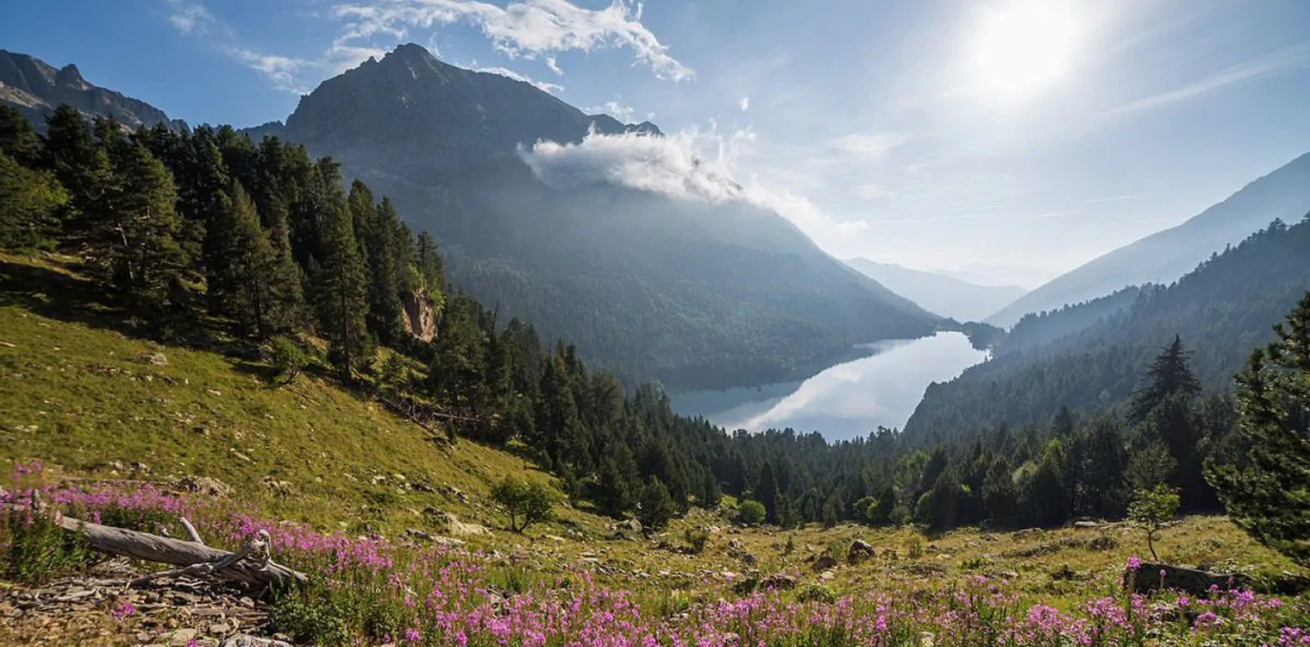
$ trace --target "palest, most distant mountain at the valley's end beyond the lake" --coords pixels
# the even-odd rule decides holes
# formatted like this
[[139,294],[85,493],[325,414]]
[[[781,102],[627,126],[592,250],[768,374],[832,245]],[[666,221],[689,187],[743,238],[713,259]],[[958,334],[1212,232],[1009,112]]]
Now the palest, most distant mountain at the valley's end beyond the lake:
[[846,265],[925,309],[959,321],[979,321],[1024,293],[1018,286],[979,286],[867,258],[852,258]]

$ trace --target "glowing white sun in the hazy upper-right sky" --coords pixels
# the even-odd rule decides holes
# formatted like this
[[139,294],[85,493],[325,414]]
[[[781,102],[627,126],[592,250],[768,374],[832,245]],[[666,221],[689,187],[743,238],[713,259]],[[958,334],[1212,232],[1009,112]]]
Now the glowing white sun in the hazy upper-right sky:
[[1077,37],[1077,21],[1060,3],[1003,7],[984,20],[973,54],[979,85],[1011,100],[1047,90],[1068,72]]

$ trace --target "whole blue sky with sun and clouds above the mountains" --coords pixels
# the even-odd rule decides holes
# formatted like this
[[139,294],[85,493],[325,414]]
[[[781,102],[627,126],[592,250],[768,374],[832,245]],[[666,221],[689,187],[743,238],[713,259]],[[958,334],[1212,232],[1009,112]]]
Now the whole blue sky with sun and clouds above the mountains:
[[51,0],[4,14],[3,48],[238,127],[415,42],[652,120],[833,255],[988,284],[1036,287],[1310,151],[1303,0]]

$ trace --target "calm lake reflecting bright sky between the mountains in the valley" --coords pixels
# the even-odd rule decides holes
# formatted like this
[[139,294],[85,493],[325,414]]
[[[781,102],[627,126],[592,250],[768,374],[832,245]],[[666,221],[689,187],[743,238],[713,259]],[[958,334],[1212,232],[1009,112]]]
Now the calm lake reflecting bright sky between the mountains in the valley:
[[796,382],[715,392],[672,393],[673,410],[701,415],[730,431],[791,427],[828,440],[904,427],[930,382],[943,382],[982,361],[986,352],[962,333],[862,346],[870,355]]

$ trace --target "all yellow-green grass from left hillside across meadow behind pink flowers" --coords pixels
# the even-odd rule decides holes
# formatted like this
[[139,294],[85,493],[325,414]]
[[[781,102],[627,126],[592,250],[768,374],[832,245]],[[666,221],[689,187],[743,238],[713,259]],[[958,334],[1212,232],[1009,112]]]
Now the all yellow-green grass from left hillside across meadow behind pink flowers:
[[[168,346],[136,329],[100,304],[64,261],[0,254],[0,469],[35,458],[75,483],[212,477],[263,519],[390,537],[424,528],[423,511],[439,508],[496,529],[469,541],[508,555],[486,571],[498,589],[527,591],[584,568],[662,614],[681,613],[752,571],[793,574],[800,583],[793,595],[814,600],[988,575],[1014,582],[1034,600],[1072,608],[1114,582],[1128,557],[1146,551],[1144,534],[1123,524],[960,529],[931,540],[912,529],[855,525],[736,529],[730,523],[736,502],[728,498],[717,512],[675,520],[654,542],[609,538],[610,520],[567,504],[557,506],[557,521],[516,536],[499,530],[506,519],[491,503],[491,487],[508,474],[552,478],[512,448],[435,440],[313,373],[278,385],[257,354],[212,326],[179,333]],[[702,553],[681,550],[702,533]],[[824,553],[844,558],[857,538],[879,557],[858,566],[838,559],[831,572],[811,567]],[[757,563],[735,557],[732,542]],[[1224,517],[1182,520],[1163,530],[1157,549],[1174,563],[1265,576],[1300,572]],[[66,557],[48,554],[51,568]]]

